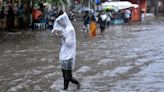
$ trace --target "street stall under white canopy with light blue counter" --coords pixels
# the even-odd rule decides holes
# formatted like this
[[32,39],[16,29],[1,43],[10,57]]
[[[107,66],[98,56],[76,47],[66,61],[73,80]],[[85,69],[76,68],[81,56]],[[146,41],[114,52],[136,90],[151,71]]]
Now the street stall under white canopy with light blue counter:
[[133,11],[135,11],[137,10],[137,8],[139,8],[139,5],[133,4],[129,1],[115,1],[115,2],[103,3],[102,8],[105,10],[106,9],[112,10],[111,24],[115,25],[115,24],[124,24],[130,22],[131,15],[134,13],[131,11],[131,9],[134,9]]

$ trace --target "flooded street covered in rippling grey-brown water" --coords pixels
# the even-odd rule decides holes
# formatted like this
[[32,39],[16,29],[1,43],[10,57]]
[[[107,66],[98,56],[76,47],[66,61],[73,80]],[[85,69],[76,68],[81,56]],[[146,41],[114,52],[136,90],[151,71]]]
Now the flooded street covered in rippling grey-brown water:
[[[81,89],[70,83],[66,92],[164,92],[164,22],[111,26],[96,38],[73,24],[73,76]],[[50,30],[6,33],[0,40],[0,92],[65,92],[59,50]]]

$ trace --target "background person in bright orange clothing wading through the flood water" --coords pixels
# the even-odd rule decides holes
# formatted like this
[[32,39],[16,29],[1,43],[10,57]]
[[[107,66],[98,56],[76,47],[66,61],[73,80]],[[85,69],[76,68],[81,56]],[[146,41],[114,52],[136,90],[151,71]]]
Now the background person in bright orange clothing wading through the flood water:
[[90,21],[90,31],[89,31],[89,36],[91,37],[96,37],[96,19],[95,16],[91,16],[91,21]]

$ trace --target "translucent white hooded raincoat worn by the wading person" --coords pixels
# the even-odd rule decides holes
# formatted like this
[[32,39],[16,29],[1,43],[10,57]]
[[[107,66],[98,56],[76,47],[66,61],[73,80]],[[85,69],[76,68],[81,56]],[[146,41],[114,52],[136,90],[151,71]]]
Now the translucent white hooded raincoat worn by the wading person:
[[63,13],[55,20],[52,33],[54,33],[55,30],[62,31],[63,35],[61,38],[62,46],[60,49],[59,59],[61,63],[63,63],[63,61],[73,58],[71,62],[73,66],[72,68],[74,68],[76,55],[76,33],[66,13]]

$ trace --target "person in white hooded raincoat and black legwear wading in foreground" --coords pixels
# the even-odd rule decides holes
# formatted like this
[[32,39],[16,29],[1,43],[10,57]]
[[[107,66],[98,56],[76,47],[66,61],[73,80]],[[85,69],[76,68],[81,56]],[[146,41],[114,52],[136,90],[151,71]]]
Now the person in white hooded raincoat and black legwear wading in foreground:
[[59,36],[62,42],[59,59],[64,78],[64,90],[68,89],[70,81],[76,84],[77,89],[79,89],[80,83],[72,77],[72,69],[75,66],[76,33],[65,12],[55,20],[52,33]]

